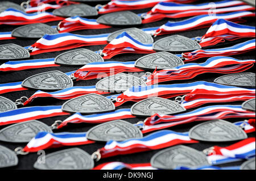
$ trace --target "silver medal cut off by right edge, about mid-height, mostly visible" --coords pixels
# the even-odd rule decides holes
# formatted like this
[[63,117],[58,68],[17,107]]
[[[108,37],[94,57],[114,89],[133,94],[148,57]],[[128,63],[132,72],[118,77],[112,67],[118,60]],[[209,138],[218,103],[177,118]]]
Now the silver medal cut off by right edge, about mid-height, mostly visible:
[[216,78],[214,82],[228,86],[255,88],[255,74],[250,72],[229,74]]

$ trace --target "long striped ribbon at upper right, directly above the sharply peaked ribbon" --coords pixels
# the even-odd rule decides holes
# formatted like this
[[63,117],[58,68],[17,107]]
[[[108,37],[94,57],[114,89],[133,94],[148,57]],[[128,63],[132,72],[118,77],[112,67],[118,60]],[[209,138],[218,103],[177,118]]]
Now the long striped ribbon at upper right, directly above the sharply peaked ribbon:
[[243,17],[255,17],[255,13],[250,11],[238,11],[226,14],[199,15],[189,19],[181,20],[180,22],[168,22],[163,26],[160,26],[159,29],[156,30],[155,35],[164,35],[210,27],[214,22],[216,22],[217,19],[226,19],[232,22],[240,23],[244,22],[242,19]]

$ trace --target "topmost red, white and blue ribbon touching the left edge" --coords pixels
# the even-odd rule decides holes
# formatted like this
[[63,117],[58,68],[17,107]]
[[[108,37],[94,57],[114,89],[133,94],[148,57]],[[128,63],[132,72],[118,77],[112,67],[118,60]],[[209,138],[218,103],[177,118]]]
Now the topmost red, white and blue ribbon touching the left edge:
[[0,24],[9,25],[46,23],[63,19],[63,17],[55,16],[51,12],[34,12],[32,14],[28,14],[11,8],[0,13]]

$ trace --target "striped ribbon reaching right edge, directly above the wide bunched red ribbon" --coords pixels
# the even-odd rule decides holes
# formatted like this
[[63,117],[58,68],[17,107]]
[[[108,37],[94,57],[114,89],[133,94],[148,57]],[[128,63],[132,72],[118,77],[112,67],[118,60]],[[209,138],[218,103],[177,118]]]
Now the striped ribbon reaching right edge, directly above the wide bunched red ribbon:
[[251,50],[255,50],[255,39],[242,42],[240,44],[233,45],[232,47],[218,48],[218,49],[198,49],[193,52],[185,52],[182,56],[185,61],[194,61],[202,57],[214,57],[214,56],[230,56],[233,54],[246,53]]

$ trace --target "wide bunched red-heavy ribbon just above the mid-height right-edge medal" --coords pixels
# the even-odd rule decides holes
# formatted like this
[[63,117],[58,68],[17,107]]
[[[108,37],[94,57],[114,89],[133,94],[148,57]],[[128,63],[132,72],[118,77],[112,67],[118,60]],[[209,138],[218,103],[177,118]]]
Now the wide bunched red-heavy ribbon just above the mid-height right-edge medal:
[[237,60],[236,58],[221,56],[211,57],[201,64],[189,63],[172,69],[154,71],[154,73],[147,77],[146,82],[147,85],[154,85],[165,81],[191,79],[203,73],[238,73],[251,68],[254,63],[255,60]]

